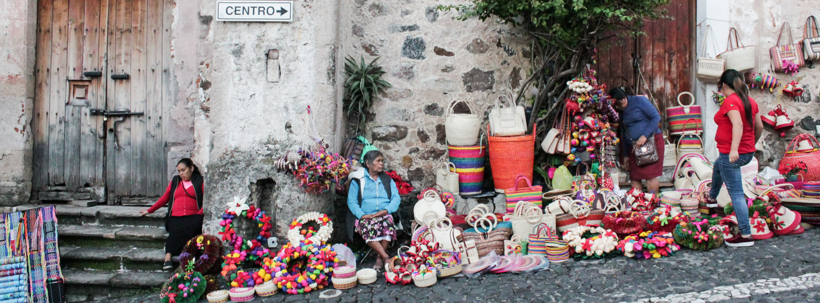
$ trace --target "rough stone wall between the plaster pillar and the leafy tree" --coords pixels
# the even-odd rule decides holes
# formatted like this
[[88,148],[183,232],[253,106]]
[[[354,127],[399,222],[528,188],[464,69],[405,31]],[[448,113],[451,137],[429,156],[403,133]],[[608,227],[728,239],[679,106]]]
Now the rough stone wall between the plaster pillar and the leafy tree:
[[447,159],[449,102],[467,98],[485,114],[499,89],[518,88],[531,73],[525,33],[493,19],[453,20],[458,12],[436,9],[458,3],[356,0],[340,10],[341,55],[380,57],[393,84],[376,98],[367,138],[385,153],[388,169],[417,188],[435,182],[435,169]]

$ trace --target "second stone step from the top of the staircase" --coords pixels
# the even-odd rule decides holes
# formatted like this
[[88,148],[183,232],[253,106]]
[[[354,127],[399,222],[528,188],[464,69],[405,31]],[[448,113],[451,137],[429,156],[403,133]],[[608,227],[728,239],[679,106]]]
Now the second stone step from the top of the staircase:
[[61,224],[60,246],[162,248],[165,228]]

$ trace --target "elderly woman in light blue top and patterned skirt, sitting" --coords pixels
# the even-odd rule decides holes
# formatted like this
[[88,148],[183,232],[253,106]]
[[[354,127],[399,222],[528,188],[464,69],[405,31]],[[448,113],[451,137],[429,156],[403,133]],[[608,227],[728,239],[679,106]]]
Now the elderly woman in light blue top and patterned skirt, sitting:
[[376,268],[389,260],[387,246],[396,237],[393,214],[399,210],[399,190],[385,174],[385,156],[379,151],[367,152],[362,170],[350,174],[348,207],[356,216],[356,233],[376,251]]

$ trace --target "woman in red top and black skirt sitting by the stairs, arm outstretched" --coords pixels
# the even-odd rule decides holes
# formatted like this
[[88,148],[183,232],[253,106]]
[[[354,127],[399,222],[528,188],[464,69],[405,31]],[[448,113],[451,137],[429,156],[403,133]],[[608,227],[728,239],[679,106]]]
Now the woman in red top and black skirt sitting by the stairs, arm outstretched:
[[168,205],[165,215],[165,263],[163,269],[171,269],[171,255],[180,255],[183,246],[193,237],[203,233],[203,175],[194,161],[184,158],[176,164],[180,175],[174,176],[165,194],[148,210],[140,211],[146,215]]

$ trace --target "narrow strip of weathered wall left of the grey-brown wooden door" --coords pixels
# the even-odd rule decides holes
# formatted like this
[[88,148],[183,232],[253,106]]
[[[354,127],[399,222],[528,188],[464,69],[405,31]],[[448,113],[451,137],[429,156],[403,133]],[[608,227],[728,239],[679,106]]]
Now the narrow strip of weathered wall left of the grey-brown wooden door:
[[0,0],[0,206],[29,201],[37,2]]

